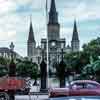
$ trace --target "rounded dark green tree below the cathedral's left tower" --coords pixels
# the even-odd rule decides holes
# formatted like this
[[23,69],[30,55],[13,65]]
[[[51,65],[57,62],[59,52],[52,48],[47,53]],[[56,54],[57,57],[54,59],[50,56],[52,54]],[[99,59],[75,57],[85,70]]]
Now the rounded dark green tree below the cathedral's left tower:
[[17,63],[17,75],[22,77],[31,77],[36,79],[38,77],[38,65],[31,61],[24,60]]

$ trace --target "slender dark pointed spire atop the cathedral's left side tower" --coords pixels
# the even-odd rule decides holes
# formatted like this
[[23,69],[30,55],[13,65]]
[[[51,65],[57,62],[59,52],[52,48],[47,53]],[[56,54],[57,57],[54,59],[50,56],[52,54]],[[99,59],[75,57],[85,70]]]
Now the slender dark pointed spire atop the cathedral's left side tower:
[[28,41],[29,42],[35,42],[34,32],[33,32],[33,25],[32,25],[32,16],[30,16],[30,28],[29,28]]

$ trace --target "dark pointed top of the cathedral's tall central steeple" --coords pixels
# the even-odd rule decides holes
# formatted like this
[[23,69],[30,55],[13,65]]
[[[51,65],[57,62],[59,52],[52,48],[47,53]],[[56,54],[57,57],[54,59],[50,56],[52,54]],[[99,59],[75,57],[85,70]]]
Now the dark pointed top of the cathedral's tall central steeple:
[[56,11],[55,0],[51,0],[51,7],[49,12],[49,24],[57,24],[58,23],[58,13]]

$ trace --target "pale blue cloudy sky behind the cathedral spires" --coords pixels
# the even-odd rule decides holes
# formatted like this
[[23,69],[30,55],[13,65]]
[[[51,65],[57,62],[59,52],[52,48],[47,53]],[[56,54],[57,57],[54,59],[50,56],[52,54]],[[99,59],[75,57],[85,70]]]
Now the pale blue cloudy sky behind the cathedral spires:
[[[15,51],[27,55],[30,16],[37,45],[46,38],[46,0],[0,0],[0,47],[14,42]],[[80,45],[100,36],[100,0],[55,0],[61,26],[60,37],[71,42],[74,19]],[[48,0],[48,11],[50,0]]]

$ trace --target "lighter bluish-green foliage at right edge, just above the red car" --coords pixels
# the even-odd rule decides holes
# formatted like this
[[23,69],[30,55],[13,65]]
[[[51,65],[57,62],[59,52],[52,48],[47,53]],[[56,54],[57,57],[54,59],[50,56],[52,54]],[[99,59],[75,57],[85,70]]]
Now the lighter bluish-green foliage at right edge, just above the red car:
[[[87,64],[78,79],[95,79],[100,80],[100,60],[93,62],[92,64]],[[99,81],[100,82],[100,81]]]

